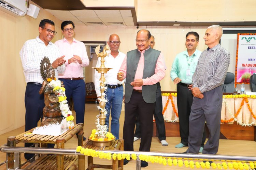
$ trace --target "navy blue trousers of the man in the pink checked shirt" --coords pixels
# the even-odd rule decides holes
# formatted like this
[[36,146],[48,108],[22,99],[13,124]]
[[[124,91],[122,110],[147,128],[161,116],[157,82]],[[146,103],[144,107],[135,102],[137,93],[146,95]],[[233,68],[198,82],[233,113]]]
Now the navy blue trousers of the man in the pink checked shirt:
[[66,96],[68,102],[72,97],[76,116],[76,124],[84,123],[85,111],[85,82],[81,80],[59,79],[66,88]]

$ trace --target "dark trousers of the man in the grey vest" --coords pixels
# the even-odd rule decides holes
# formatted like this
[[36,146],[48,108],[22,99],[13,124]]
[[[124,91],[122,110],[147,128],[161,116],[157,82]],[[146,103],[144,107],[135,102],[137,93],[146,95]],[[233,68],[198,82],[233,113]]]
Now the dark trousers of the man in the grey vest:
[[132,91],[130,101],[125,103],[125,122],[123,130],[125,151],[133,151],[136,117],[140,119],[141,142],[139,151],[150,151],[154,108],[155,103],[146,103],[143,100],[142,93]]

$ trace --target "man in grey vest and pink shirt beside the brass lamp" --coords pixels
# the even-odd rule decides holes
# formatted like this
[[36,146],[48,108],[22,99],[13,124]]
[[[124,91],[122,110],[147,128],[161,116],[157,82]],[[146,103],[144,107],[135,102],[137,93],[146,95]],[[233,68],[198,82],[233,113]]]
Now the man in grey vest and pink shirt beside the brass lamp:
[[[133,151],[134,128],[137,115],[140,119],[141,143],[139,151],[150,151],[153,133],[153,112],[157,82],[165,77],[163,55],[150,48],[148,30],[139,30],[136,37],[138,49],[127,52],[117,79],[125,82],[124,150]],[[124,165],[128,160],[124,160]],[[146,167],[145,161],[141,167]]]

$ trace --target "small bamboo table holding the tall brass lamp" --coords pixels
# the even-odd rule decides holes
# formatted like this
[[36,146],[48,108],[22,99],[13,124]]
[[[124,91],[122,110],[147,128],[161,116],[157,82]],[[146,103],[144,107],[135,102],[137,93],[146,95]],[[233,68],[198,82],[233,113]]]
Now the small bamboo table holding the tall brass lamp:
[[[123,151],[124,150],[124,140],[123,139],[114,140],[110,146],[106,146],[106,147],[93,146],[93,142],[91,140],[88,140],[85,143],[84,148],[94,149],[94,150]],[[93,164],[92,156],[88,156],[88,168],[86,170],[94,170],[94,168],[122,170],[122,169],[124,169],[124,159],[122,159],[122,160],[118,160],[117,158],[116,158],[116,160],[112,159],[112,165],[98,165],[98,164]]]

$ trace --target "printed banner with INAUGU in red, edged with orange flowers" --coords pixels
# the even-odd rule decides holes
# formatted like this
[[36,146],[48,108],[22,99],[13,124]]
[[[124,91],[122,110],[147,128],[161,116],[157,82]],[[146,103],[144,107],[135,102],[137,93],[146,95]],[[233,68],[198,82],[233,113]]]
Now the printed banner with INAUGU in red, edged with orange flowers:
[[235,84],[249,84],[252,74],[256,74],[256,35],[237,34]]

